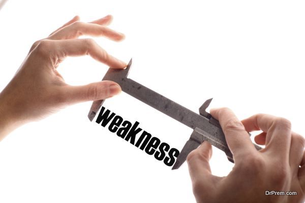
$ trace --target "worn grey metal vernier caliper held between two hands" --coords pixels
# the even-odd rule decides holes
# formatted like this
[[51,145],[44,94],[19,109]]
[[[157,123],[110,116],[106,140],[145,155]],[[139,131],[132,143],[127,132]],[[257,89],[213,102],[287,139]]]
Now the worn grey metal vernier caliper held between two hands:
[[[173,119],[191,127],[193,130],[190,139],[182,148],[174,163],[172,170],[180,167],[187,159],[188,154],[196,149],[202,142],[207,141],[211,145],[224,151],[229,161],[233,161],[232,153],[227,145],[224,132],[215,118],[206,112],[206,108],[211,102],[211,98],[206,100],[199,108],[199,114],[175,103],[161,94],[127,78],[131,68],[132,59],[126,69],[109,68],[103,80],[111,80],[118,83],[121,89],[129,95],[139,99],[143,103],[161,111]],[[88,114],[90,121],[99,112],[105,100],[94,101]],[[257,150],[261,148],[254,144]]]

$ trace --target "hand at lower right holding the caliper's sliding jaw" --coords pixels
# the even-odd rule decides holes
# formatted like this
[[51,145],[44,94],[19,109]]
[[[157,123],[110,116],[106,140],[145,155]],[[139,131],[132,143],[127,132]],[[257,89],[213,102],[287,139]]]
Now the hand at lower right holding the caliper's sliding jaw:
[[[211,175],[211,145],[204,142],[187,160],[197,202],[303,202],[305,189],[304,139],[291,131],[284,118],[257,114],[239,121],[229,109],[214,109],[235,165],[227,177]],[[255,142],[248,132],[262,130]],[[265,191],[296,191],[297,195],[265,195]]]

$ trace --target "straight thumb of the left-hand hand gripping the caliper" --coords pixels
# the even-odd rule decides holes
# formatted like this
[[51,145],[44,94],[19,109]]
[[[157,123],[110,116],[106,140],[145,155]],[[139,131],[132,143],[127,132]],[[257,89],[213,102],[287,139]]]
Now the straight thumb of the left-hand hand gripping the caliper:
[[120,86],[112,81],[101,81],[83,86],[68,86],[66,89],[69,103],[101,100],[112,97],[121,92]]

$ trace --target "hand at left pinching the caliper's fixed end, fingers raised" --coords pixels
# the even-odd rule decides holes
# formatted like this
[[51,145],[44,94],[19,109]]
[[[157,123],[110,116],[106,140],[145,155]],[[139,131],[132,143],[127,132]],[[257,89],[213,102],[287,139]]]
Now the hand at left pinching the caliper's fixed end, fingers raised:
[[121,91],[119,85],[102,81],[85,86],[70,86],[57,72],[67,56],[90,55],[113,68],[123,69],[126,63],[109,55],[92,39],[82,35],[104,36],[113,41],[124,35],[106,27],[112,16],[90,23],[76,16],[46,39],[32,46],[14,78],[0,93],[0,140],[16,127],[56,112],[67,105],[111,97]]

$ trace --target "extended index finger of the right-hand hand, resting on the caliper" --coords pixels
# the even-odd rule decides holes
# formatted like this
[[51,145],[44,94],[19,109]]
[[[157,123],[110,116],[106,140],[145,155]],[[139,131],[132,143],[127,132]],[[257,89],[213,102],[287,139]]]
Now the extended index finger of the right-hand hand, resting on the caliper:
[[247,156],[249,153],[256,153],[248,132],[230,109],[211,109],[210,114],[219,120],[234,159],[237,156]]

